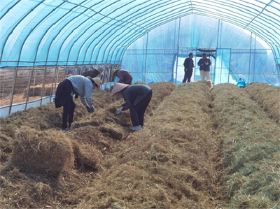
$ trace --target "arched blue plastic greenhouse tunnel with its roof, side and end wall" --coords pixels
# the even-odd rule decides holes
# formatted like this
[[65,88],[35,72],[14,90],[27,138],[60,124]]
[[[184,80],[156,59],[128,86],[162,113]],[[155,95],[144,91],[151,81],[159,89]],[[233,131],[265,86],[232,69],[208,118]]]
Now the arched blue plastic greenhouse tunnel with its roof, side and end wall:
[[0,0],[0,116],[53,101],[59,82],[102,67],[180,85],[202,53],[214,85],[280,87],[279,0]]

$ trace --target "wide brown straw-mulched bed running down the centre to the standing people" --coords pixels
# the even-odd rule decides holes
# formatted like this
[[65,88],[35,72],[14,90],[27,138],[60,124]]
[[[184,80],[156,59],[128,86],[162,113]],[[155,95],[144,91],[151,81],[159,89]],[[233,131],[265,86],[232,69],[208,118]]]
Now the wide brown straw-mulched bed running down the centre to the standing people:
[[179,86],[78,191],[78,208],[215,208],[209,87]]

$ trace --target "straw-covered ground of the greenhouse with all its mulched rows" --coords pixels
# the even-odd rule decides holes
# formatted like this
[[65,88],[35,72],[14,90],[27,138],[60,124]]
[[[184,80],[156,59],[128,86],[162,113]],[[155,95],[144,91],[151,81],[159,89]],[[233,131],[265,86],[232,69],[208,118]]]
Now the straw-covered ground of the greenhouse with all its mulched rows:
[[66,133],[53,103],[1,118],[1,208],[280,207],[279,125],[249,88],[150,86],[136,133],[109,90]]

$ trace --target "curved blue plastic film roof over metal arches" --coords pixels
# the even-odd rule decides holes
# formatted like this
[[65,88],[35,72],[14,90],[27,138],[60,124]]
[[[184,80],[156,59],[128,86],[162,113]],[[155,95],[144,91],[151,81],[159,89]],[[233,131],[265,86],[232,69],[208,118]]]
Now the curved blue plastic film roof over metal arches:
[[0,66],[120,64],[148,31],[186,15],[250,31],[280,64],[279,0],[0,0]]

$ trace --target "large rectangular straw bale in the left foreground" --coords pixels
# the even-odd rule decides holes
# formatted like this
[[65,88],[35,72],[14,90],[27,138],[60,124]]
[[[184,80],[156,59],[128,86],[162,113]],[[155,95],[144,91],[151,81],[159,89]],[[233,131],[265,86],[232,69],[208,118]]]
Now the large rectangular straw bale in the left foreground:
[[73,167],[73,148],[60,131],[22,127],[15,135],[11,163],[22,171],[58,177]]

